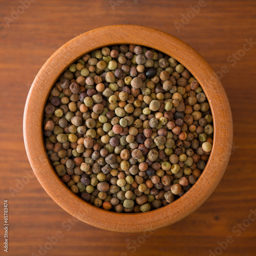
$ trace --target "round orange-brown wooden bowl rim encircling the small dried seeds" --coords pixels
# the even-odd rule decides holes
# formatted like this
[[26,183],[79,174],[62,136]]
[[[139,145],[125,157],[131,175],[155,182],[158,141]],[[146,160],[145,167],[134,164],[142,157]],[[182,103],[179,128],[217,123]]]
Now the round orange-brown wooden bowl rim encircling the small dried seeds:
[[[50,91],[58,77],[82,55],[111,45],[134,44],[154,48],[177,59],[201,84],[210,104],[214,143],[198,181],[178,200],[139,214],[120,214],[83,201],[60,180],[44,146],[42,121]],[[193,48],[162,31],[117,25],[81,34],[60,47],[38,72],[29,91],[24,112],[24,141],[30,164],[50,197],[75,218],[98,228],[119,232],[142,232],[180,221],[196,210],[220,182],[232,148],[232,116],[228,98],[215,72]]]

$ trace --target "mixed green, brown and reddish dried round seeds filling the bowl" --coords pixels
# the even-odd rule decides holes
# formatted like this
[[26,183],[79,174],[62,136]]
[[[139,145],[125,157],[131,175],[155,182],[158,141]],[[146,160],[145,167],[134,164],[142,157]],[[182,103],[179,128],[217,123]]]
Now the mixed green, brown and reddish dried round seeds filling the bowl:
[[117,212],[181,197],[205,168],[213,132],[198,81],[174,58],[135,45],[78,59],[45,107],[57,175],[84,201]]

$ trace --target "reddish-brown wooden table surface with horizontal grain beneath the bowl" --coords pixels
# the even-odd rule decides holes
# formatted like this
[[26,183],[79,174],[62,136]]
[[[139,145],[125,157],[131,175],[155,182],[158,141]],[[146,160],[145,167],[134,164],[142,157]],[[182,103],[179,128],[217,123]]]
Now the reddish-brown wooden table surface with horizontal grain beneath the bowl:
[[[8,200],[9,254],[1,246],[0,255],[256,255],[255,12],[253,0],[1,0],[0,223]],[[24,147],[24,105],[40,67],[71,38],[114,24],[150,26],[195,48],[218,72],[233,114],[232,155],[215,192],[152,233],[72,219],[33,176]]]

